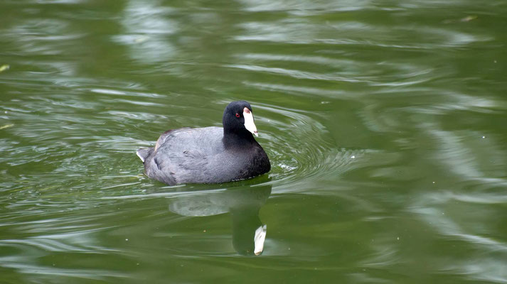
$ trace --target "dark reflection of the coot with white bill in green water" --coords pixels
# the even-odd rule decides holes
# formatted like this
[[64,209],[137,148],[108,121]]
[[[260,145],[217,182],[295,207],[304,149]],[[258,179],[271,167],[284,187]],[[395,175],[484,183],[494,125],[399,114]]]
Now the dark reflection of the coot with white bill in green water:
[[183,216],[212,216],[230,212],[233,220],[233,246],[238,253],[258,256],[264,249],[267,226],[259,210],[271,194],[271,185],[209,191],[176,197],[169,210]]

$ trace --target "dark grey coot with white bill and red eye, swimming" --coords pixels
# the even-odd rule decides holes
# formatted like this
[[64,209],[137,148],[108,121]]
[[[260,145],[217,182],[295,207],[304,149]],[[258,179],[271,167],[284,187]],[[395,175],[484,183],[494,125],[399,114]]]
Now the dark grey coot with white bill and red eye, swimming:
[[231,102],[222,122],[223,128],[172,129],[154,148],[139,149],[146,175],[175,185],[230,182],[269,172],[269,158],[252,135],[258,136],[250,104]]

